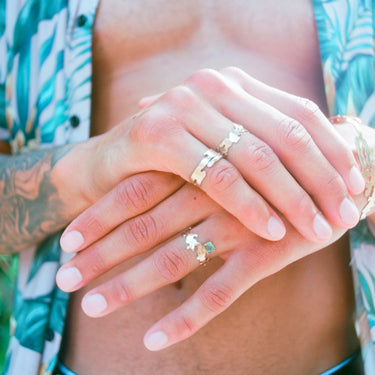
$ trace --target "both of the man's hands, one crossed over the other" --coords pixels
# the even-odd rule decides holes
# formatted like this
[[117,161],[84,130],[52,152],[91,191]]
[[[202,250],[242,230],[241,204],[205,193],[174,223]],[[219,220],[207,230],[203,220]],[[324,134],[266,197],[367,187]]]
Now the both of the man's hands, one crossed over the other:
[[[327,246],[359,219],[352,195],[364,180],[350,148],[311,101],[237,68],[202,70],[143,101],[136,116],[97,137],[92,184],[101,197],[65,230],[78,254],[62,266],[65,291],[87,285],[135,255],[150,255],[82,301],[104,316],[199,266],[178,235],[211,241],[224,265],[146,333],[159,350],[186,339],[242,293]],[[190,183],[207,149],[240,124],[247,131]]]

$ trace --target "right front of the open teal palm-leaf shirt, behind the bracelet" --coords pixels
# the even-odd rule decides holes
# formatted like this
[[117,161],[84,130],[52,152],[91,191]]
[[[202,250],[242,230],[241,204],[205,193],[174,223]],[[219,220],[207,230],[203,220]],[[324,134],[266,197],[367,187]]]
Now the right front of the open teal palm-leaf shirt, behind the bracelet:
[[[375,0],[313,0],[330,115],[375,127]],[[375,374],[375,228],[351,231],[357,331],[366,374]]]

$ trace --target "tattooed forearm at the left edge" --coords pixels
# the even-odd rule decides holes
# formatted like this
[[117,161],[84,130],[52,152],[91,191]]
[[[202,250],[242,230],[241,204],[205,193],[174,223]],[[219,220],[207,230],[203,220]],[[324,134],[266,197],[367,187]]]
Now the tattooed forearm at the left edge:
[[0,156],[0,252],[21,250],[66,224],[50,176],[72,147]]

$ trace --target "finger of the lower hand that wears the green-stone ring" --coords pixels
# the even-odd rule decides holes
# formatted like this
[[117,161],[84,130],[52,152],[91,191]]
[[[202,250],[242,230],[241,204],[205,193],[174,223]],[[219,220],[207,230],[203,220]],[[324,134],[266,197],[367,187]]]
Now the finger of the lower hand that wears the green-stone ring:
[[[236,230],[236,234],[242,227],[244,233],[228,236],[226,231],[215,229],[219,223],[220,227]],[[230,251],[238,245],[238,238],[243,240],[244,235],[252,235],[227,214],[207,218],[194,227],[190,234],[200,246],[213,241],[211,244],[214,244],[215,250],[208,257]],[[187,237],[176,237],[129,270],[88,292],[82,300],[83,310],[91,317],[101,317],[180,280],[200,265],[198,246],[192,249]]]

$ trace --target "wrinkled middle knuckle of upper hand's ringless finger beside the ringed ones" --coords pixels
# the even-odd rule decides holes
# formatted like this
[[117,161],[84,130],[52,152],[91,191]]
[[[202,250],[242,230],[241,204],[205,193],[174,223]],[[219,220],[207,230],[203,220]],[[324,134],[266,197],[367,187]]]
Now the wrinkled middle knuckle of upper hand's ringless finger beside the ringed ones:
[[302,124],[294,119],[285,117],[279,123],[281,140],[290,147],[307,148],[311,137]]

